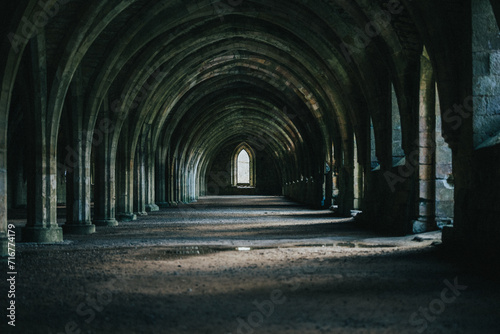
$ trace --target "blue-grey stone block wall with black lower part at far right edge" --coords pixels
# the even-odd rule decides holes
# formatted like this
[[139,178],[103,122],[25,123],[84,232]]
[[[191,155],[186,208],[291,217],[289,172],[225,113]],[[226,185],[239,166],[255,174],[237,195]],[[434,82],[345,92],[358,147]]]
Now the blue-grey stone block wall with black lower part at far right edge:
[[472,178],[470,193],[458,193],[455,208],[465,224],[443,234],[459,248],[486,250],[485,256],[500,251],[500,29],[491,4],[472,2],[472,99],[461,108],[467,119],[473,104]]

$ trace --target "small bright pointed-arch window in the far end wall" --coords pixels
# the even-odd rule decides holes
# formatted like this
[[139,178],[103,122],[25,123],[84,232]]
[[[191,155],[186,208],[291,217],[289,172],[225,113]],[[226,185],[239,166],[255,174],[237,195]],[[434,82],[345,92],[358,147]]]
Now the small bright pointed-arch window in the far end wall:
[[233,186],[255,187],[255,153],[246,143],[233,151],[232,174]]

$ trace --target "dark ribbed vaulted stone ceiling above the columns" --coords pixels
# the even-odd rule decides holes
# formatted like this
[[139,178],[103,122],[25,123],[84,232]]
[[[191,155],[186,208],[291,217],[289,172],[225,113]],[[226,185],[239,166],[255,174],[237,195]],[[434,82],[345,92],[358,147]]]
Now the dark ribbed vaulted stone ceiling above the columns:
[[[77,91],[89,132],[109,106],[115,147],[127,126],[131,148],[148,129],[155,147],[173,145],[187,159],[197,153],[198,162],[210,160],[214,148],[245,141],[264,146],[283,164],[318,166],[332,142],[342,145],[353,134],[358,147],[369,150],[370,118],[377,145],[390,151],[384,138],[391,83],[405,145],[414,138],[411,96],[424,40],[433,42],[430,51],[442,42],[438,33],[429,37],[439,26],[428,24],[451,8],[411,0],[48,0],[2,6],[11,22],[4,27],[10,43],[2,44],[12,69],[4,87],[12,89],[7,80],[21,64],[19,54],[29,57],[33,47],[45,51],[54,141],[70,109],[68,96]],[[424,19],[429,8],[433,16]],[[25,38],[33,25],[43,32],[36,46]],[[17,96],[23,99],[19,91]]]

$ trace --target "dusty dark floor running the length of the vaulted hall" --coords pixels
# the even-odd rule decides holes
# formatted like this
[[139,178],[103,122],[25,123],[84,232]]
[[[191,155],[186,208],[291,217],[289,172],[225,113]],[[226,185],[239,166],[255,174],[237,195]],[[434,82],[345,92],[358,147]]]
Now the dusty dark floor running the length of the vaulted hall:
[[384,237],[281,197],[204,198],[18,243],[17,326],[0,333],[498,333],[498,279],[439,239]]

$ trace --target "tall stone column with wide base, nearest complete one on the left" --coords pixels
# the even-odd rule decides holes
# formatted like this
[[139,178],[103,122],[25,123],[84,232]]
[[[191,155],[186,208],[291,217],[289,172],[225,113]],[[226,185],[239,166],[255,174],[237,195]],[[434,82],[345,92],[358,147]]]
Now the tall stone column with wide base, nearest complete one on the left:
[[[40,32],[36,38],[32,39],[31,43],[35,96],[33,113],[30,116],[34,122],[34,131],[29,136],[33,151],[30,155],[32,161],[28,164],[31,169],[28,173],[30,176],[28,182],[30,189],[28,191],[28,223],[22,230],[22,237],[27,242],[61,242],[63,241],[63,233],[57,224],[57,143],[51,142],[50,127],[53,125],[47,124],[48,89],[44,32]],[[6,177],[4,186],[6,189]],[[6,196],[7,191],[2,194]],[[7,208],[6,204],[5,208]]]

